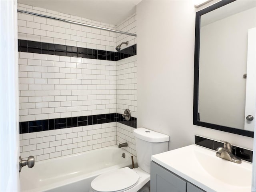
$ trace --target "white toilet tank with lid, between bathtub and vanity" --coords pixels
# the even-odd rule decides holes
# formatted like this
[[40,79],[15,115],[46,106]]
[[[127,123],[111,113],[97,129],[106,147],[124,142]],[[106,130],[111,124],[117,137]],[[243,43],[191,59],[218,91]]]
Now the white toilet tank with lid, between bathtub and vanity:
[[133,131],[138,166],[150,173],[151,156],[168,151],[169,136],[145,128]]

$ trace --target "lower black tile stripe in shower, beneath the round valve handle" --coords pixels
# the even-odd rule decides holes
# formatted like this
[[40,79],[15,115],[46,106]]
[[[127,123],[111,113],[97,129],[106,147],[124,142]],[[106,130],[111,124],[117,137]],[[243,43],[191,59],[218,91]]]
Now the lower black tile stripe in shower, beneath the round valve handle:
[[79,127],[87,125],[95,125],[102,123],[119,122],[133,128],[137,128],[137,118],[131,117],[129,121],[126,121],[122,114],[109,113],[100,115],[89,115],[79,117],[46,119],[36,121],[20,122],[20,134],[32,133],[46,130]]

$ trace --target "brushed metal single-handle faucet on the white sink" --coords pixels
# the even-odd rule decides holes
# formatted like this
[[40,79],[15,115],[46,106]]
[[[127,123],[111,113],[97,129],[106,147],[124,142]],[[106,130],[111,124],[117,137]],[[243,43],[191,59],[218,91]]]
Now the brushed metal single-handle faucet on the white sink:
[[232,154],[232,145],[229,142],[223,141],[223,147],[218,147],[216,151],[217,157],[232,161],[234,163],[242,163],[241,158]]

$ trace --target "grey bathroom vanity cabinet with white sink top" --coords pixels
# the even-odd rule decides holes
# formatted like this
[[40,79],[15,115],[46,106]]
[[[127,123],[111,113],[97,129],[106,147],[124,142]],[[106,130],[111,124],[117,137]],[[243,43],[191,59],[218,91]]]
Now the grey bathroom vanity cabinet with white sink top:
[[250,192],[252,164],[189,145],[151,157],[151,192]]

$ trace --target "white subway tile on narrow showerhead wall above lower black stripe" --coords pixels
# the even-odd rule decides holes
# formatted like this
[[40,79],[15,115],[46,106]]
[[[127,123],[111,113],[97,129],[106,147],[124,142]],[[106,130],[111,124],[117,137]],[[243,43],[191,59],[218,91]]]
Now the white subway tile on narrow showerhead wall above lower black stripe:
[[[132,14],[116,26],[116,30],[136,34],[136,13]],[[136,44],[135,36],[116,34],[116,45],[128,41],[128,46]],[[121,50],[127,46],[123,44]],[[117,113],[123,114],[129,109],[133,117],[137,117],[137,56],[116,62]]]

